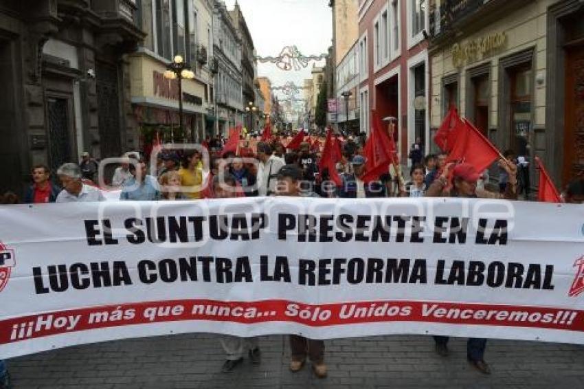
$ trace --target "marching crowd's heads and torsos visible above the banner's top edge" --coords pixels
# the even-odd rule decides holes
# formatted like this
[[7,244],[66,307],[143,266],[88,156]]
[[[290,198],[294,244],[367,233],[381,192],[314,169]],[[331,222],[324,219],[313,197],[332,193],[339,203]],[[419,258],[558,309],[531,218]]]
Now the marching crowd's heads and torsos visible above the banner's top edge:
[[[212,179],[216,176],[235,179],[236,193],[240,197],[271,196],[277,194],[278,173],[284,166],[300,169],[300,196],[308,197],[432,197],[449,192],[458,195],[462,182],[470,183],[468,186],[477,190],[473,193],[478,197],[502,198],[512,186],[518,189],[516,196],[523,191],[521,182],[518,182],[521,181],[521,162],[517,162],[513,151],[506,151],[499,161],[496,185],[489,184],[488,170],[475,172],[473,166],[447,165],[447,153],[420,156],[421,145],[417,141],[409,154],[412,164],[407,180],[400,166],[390,166],[387,173],[379,175],[379,179],[365,182],[362,177],[366,173],[367,159],[363,142],[348,137],[342,149],[343,157],[336,164],[341,178],[338,185],[330,181],[328,169],[319,168],[322,150],[310,142],[302,142],[296,150],[287,149],[278,141],[258,142],[253,149],[242,147],[240,150],[236,154],[222,153],[221,147],[217,146],[210,148],[206,166],[201,151],[162,150],[153,159],[156,162],[152,166],[147,166],[141,153],[130,152],[122,156],[122,162],[111,177],[98,177],[99,163],[89,153],[83,153],[79,164],[71,162],[60,166],[56,180],[47,166],[34,166],[32,184],[22,201],[14,192],[6,192],[0,196],[0,202],[104,201],[104,190],[100,190],[98,184],[107,186],[109,192],[118,190],[120,200],[212,199]],[[444,183],[445,188],[437,192],[440,183]],[[492,192],[487,191],[488,187]],[[581,180],[574,180],[562,193],[563,199],[578,197],[580,187]]]

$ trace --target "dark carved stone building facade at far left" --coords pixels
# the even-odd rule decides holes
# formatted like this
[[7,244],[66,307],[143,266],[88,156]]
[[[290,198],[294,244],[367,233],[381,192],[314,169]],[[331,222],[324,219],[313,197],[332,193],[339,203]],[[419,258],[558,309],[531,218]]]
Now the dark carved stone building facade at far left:
[[144,38],[133,0],[0,2],[0,192],[30,169],[137,147],[128,63]]

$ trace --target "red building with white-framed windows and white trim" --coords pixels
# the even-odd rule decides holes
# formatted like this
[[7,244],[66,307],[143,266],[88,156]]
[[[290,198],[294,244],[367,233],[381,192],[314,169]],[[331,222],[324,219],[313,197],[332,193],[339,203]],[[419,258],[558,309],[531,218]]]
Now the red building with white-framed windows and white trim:
[[371,111],[396,120],[402,162],[417,137],[430,148],[427,0],[359,0],[359,105],[361,131]]

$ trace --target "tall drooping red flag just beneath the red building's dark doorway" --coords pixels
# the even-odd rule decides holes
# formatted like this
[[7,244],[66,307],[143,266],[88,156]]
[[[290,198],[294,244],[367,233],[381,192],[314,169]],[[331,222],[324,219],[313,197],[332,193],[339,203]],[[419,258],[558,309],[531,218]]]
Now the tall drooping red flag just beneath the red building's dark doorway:
[[366,184],[379,179],[380,175],[388,173],[390,164],[397,165],[399,163],[393,137],[390,138],[383,131],[383,123],[381,123],[376,111],[372,112],[372,125],[369,139],[363,147],[363,154],[365,154],[367,162],[365,163],[365,174],[361,179]]

